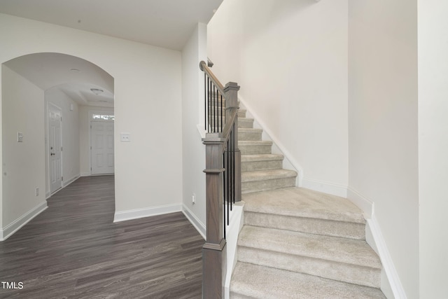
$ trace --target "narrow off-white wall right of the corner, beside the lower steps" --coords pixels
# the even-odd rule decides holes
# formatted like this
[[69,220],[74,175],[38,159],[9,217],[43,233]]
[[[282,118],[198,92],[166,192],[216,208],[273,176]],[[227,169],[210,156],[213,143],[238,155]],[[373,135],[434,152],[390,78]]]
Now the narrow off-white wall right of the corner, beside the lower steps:
[[349,188],[419,298],[416,1],[349,1]]

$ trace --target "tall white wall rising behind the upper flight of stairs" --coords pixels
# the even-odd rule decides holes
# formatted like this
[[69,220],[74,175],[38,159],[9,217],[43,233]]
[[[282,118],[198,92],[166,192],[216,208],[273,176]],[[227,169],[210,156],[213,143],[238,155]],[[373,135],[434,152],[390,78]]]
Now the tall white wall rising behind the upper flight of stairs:
[[347,0],[226,0],[209,57],[303,170],[302,186],[346,195]]

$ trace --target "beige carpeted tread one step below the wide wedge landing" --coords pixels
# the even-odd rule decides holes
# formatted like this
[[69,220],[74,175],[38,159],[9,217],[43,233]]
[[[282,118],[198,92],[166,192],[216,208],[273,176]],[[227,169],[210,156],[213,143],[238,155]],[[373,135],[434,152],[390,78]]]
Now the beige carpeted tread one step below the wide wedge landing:
[[244,225],[238,246],[381,269],[377,253],[363,240]]

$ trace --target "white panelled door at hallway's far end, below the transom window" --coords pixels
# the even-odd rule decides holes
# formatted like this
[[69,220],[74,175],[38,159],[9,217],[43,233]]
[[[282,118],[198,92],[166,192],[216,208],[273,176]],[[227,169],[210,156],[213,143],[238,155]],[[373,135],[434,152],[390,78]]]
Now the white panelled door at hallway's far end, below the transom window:
[[113,174],[113,122],[92,121],[92,174]]

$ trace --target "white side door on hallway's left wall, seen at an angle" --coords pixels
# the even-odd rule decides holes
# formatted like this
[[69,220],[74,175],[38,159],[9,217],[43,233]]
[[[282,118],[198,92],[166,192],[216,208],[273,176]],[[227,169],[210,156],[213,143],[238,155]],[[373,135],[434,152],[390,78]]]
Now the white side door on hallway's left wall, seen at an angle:
[[62,141],[61,141],[62,111],[57,106],[48,103],[48,159],[50,161],[50,193],[62,187]]

